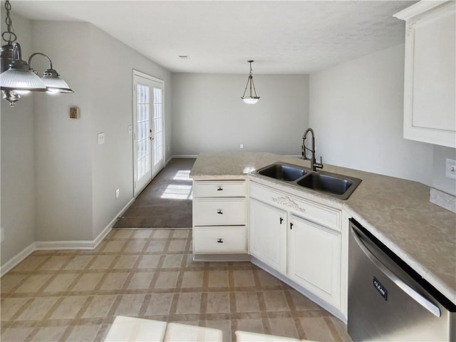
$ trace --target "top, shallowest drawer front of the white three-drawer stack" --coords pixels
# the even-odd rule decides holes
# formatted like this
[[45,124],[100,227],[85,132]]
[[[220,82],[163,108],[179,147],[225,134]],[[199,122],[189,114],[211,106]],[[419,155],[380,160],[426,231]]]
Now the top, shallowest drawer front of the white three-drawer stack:
[[195,181],[193,197],[246,197],[245,181]]

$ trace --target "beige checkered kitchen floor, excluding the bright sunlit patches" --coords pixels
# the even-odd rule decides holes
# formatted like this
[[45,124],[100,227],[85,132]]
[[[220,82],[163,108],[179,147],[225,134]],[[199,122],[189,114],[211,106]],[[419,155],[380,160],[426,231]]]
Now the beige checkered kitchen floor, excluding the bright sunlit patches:
[[1,341],[103,341],[115,316],[314,341],[337,318],[249,262],[192,261],[191,229],[113,229],[95,250],[40,251],[1,285]]

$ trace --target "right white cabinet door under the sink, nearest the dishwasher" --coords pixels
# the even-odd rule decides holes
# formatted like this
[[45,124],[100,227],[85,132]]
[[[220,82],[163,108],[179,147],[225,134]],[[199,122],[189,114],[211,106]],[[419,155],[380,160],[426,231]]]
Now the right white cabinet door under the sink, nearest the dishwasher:
[[288,228],[289,277],[340,308],[341,234],[293,215]]

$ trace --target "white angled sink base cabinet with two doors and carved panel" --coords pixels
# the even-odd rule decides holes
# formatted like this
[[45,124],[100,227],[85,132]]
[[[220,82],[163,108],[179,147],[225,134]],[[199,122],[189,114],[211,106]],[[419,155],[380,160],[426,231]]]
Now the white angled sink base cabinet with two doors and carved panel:
[[341,210],[250,181],[250,254],[341,310]]

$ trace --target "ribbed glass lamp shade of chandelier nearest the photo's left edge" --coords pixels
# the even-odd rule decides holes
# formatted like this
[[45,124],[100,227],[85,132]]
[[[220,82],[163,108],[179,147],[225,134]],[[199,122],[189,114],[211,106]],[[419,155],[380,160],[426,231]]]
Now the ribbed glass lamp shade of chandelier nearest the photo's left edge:
[[30,70],[11,68],[0,74],[1,90],[46,91],[46,85]]

